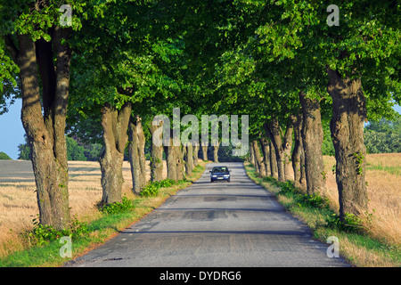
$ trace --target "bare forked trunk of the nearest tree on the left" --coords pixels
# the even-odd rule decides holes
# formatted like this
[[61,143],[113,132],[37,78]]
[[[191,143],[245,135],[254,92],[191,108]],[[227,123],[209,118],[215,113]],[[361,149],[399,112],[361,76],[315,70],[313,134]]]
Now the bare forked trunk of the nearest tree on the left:
[[[22,94],[21,121],[32,153],[32,167],[37,184],[37,205],[41,224],[56,229],[67,228],[70,224],[68,193],[67,146],[64,137],[65,118],[70,86],[71,51],[61,45],[61,37],[68,38],[68,30],[53,28],[52,45],[35,43],[28,35],[18,35],[19,50],[8,43],[13,50],[13,60],[20,67]],[[37,56],[50,48],[50,55]],[[53,54],[56,67],[53,65]],[[39,55],[40,56],[40,55]],[[37,63],[39,63],[37,65]],[[37,67],[41,75],[53,72],[42,79],[45,116],[39,93]],[[46,80],[49,79],[49,80]]]

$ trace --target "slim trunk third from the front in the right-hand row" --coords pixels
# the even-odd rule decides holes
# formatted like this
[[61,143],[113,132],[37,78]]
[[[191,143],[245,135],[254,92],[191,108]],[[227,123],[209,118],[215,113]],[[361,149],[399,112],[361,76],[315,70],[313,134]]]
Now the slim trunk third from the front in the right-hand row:
[[294,170],[294,186],[307,191],[307,179],[305,175],[305,154],[302,143],[302,113],[291,116],[294,128],[294,150],[292,151],[291,161]]

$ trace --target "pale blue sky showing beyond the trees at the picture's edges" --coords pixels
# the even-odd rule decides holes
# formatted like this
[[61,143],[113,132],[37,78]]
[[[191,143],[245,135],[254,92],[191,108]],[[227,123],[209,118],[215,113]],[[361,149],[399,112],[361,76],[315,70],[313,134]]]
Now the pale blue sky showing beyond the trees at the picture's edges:
[[[0,151],[4,151],[12,159],[18,159],[18,145],[24,143],[25,130],[20,121],[22,100],[17,99],[8,112],[0,116]],[[395,106],[401,114],[401,107]]]

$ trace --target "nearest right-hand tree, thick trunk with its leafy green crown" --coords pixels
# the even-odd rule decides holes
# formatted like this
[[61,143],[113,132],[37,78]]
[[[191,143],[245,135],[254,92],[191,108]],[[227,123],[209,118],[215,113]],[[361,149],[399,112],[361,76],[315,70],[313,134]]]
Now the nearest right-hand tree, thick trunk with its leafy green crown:
[[[241,3],[253,9],[263,5],[257,1]],[[389,102],[399,101],[400,31],[396,15],[400,6],[395,1],[342,2],[340,26],[329,26],[327,7],[321,2],[264,4],[270,8],[270,17],[261,23],[255,41],[271,55],[267,59],[289,59],[293,69],[306,68],[302,70],[305,76],[298,77],[302,89],[309,85],[308,89],[317,88],[320,92],[315,94],[321,94],[325,85],[331,97],[340,218],[345,213],[364,212],[364,120],[391,117]]]

